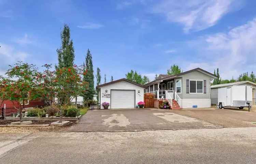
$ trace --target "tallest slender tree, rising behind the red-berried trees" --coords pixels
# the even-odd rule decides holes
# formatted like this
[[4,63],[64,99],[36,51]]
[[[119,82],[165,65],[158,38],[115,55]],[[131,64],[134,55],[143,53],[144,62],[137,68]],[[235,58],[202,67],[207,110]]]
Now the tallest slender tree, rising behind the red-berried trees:
[[63,30],[60,33],[61,47],[57,49],[58,54],[58,67],[73,66],[75,54],[73,41],[70,40],[70,28],[68,25],[64,25]]

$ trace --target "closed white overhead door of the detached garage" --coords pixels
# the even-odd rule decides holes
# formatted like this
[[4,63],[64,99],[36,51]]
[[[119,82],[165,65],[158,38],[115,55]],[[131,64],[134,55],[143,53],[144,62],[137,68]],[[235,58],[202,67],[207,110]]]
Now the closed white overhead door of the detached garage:
[[134,108],[134,90],[111,90],[111,109],[114,108]]

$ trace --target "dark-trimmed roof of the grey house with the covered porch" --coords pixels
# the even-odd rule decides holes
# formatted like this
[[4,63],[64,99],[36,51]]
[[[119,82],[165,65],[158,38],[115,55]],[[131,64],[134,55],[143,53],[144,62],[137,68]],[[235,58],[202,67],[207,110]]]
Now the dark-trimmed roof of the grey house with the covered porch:
[[[185,72],[182,72],[182,73],[179,73],[179,74],[176,74],[176,75],[162,75],[162,74],[160,74],[160,75],[162,75],[162,76],[164,76],[164,77],[162,77],[162,78],[157,78],[156,80],[150,81],[149,83],[145,84],[144,86],[148,86],[148,85],[150,85],[150,84],[152,84],[152,83],[155,83],[155,82],[161,81],[161,80],[173,79],[173,78],[175,78],[175,77],[178,77],[178,76],[181,76],[181,75],[184,75],[184,74],[193,72],[193,71],[199,71],[199,72],[204,73],[204,74],[207,74],[208,76],[211,76],[211,77],[213,77],[213,78],[217,78],[216,75],[214,75],[214,74],[212,74],[212,73],[210,73],[210,72],[208,72],[208,71],[205,71],[205,70],[200,69],[200,68],[195,68],[195,69],[193,69],[193,70],[185,71]],[[159,76],[160,76],[160,75],[159,75]],[[158,77],[159,77],[159,76],[158,76]]]

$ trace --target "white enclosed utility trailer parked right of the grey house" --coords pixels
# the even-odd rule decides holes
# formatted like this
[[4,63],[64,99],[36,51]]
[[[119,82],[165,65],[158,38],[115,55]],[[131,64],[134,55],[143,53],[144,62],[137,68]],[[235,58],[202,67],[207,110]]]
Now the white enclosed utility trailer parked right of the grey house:
[[240,109],[250,107],[253,101],[252,86],[231,86],[218,88],[218,107],[238,107]]

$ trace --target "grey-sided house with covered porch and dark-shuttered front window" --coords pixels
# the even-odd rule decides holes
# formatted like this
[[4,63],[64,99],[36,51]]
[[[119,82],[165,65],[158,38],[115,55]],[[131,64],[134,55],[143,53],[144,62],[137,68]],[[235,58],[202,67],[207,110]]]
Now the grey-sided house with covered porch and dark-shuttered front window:
[[177,75],[159,75],[145,84],[145,92],[153,93],[155,99],[177,102],[181,108],[211,107],[211,80],[216,76],[196,68]]

